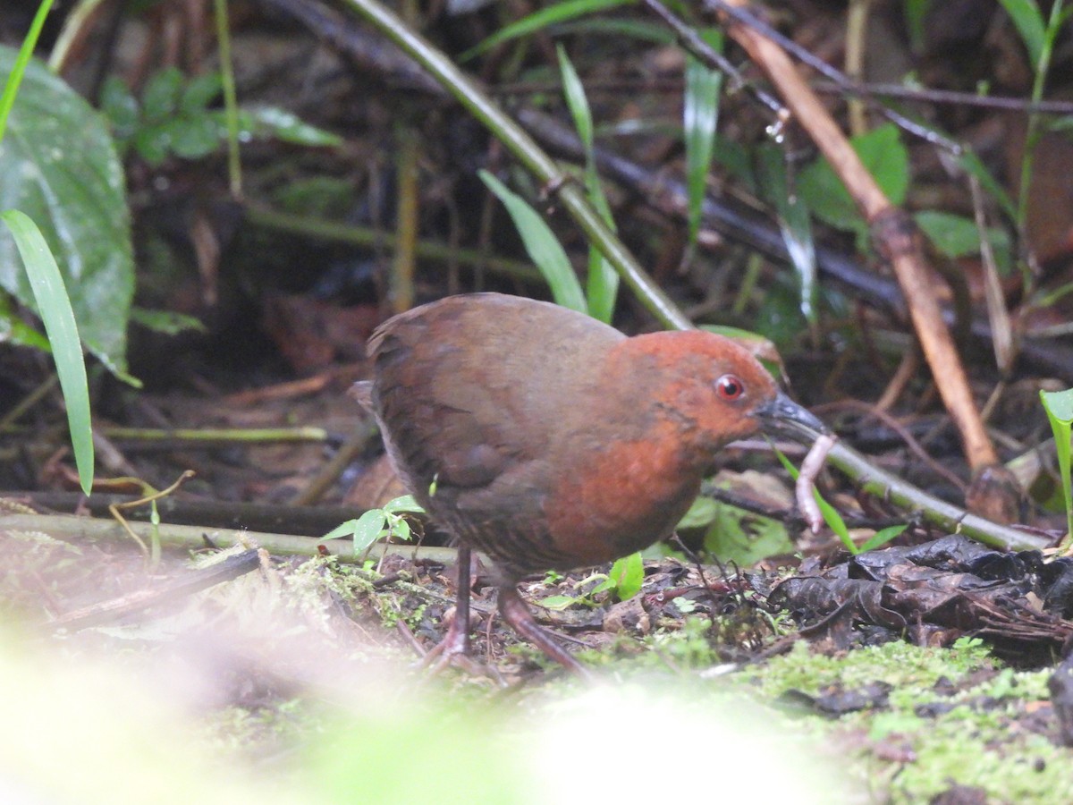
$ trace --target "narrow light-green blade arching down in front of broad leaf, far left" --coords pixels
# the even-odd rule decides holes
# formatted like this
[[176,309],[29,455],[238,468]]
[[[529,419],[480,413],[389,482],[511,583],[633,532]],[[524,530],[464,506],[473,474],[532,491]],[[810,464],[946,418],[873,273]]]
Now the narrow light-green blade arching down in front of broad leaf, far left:
[[48,244],[38,225],[24,213],[9,209],[0,213],[15,239],[26,273],[33,289],[34,301],[44,322],[48,342],[56,360],[56,374],[68,409],[68,425],[74,448],[78,480],[87,495],[93,485],[93,430],[89,412],[89,384],[86,362],[82,355],[78,326],[68,297],[63,277]]

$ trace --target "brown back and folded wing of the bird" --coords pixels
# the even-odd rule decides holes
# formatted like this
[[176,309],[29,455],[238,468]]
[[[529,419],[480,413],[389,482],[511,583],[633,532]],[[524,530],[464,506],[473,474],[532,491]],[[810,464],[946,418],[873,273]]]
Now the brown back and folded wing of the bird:
[[[500,294],[449,297],[395,317],[369,341],[373,405],[398,468],[414,485],[524,483],[559,424],[556,398],[591,372],[578,339],[620,333],[546,303]],[[533,467],[531,471],[542,470]]]

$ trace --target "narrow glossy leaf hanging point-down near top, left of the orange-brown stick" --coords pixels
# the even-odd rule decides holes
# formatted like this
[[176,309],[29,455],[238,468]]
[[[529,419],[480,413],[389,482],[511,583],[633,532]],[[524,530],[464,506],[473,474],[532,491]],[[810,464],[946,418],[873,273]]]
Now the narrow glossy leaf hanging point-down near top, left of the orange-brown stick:
[[[723,36],[718,29],[702,29],[700,35],[714,49],[722,52]],[[696,245],[701,231],[701,211],[716,150],[716,127],[719,123],[719,98],[722,86],[723,74],[720,71],[705,67],[692,56],[687,57],[682,128],[686,138],[690,247]]]

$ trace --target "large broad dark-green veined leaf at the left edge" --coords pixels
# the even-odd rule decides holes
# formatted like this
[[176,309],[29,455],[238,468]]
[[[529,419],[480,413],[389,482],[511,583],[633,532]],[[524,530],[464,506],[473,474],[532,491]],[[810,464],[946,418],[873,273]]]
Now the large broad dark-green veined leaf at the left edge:
[[[0,47],[0,82],[15,52]],[[134,260],[123,171],[104,118],[32,60],[0,145],[0,210],[33,219],[60,266],[83,342],[113,374],[127,370]],[[0,231],[0,287],[34,306],[33,290]]]

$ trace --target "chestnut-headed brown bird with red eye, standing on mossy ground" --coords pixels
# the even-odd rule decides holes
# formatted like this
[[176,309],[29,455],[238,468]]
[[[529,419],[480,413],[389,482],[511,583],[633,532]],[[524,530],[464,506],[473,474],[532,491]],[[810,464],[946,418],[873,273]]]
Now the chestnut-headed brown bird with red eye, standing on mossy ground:
[[470,552],[497,609],[582,675],[517,583],[613,561],[671,536],[731,441],[826,433],[743,346],[692,330],[628,337],[585,313],[499,293],[447,296],[383,322],[374,415],[402,483],[458,543],[455,617],[430,654],[469,654]]

